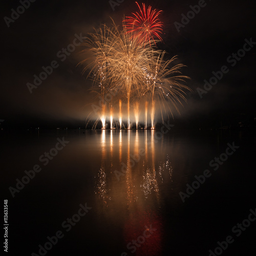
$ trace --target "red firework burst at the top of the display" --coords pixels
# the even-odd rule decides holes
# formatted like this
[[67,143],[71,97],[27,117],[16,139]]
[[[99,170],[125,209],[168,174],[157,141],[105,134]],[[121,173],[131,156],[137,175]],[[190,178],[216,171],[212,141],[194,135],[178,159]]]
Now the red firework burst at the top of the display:
[[145,4],[142,4],[141,8],[137,2],[136,4],[140,12],[132,13],[134,16],[125,17],[123,20],[126,33],[132,34],[132,38],[138,36],[140,42],[147,41],[150,44],[151,40],[155,42],[156,38],[162,40],[160,34],[162,33],[163,23],[158,18],[162,11],[152,10],[151,6],[146,9]]

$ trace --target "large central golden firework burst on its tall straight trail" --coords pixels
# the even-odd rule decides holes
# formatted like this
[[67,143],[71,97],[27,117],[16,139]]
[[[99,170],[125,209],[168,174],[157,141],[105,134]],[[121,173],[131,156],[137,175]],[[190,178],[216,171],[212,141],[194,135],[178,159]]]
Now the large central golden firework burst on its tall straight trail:
[[[126,30],[119,31],[114,24],[110,29],[105,25],[100,32],[90,34],[85,43],[91,54],[89,76],[93,79],[101,97],[109,90],[118,92],[118,99],[127,99],[127,125],[130,127],[130,101],[136,100],[147,84],[143,67],[152,61],[154,52],[149,44],[138,44],[138,39],[131,39]],[[157,52],[157,50],[156,50]],[[143,89],[142,89],[143,88]]]

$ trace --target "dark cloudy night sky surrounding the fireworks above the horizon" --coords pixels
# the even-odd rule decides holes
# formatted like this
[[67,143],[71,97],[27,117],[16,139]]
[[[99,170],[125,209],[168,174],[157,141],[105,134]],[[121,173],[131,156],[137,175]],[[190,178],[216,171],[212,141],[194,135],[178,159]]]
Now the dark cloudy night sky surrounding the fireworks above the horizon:
[[[191,77],[188,86],[194,93],[187,95],[188,103],[177,120],[212,123],[236,119],[244,114],[256,117],[255,60],[256,45],[231,67],[227,57],[243,48],[245,39],[256,42],[256,5],[254,1],[206,1],[190,22],[180,29],[181,14],[198,1],[145,1],[163,10],[163,44],[161,49],[170,56],[179,55],[187,66],[183,70]],[[82,59],[82,47],[67,56],[57,57],[63,47],[71,44],[75,34],[86,36],[101,23],[109,23],[109,16],[120,23],[123,15],[137,10],[135,1],[124,0],[112,10],[109,1],[35,1],[8,28],[4,17],[11,17],[11,9],[18,1],[2,1],[1,89],[0,119],[6,126],[84,123],[90,109],[91,81],[76,67]],[[26,83],[33,75],[56,60],[59,67],[30,94]],[[212,71],[226,65],[229,72],[201,99],[196,91],[203,88]],[[237,119],[236,119],[237,120]],[[66,123],[65,123],[66,124]]]

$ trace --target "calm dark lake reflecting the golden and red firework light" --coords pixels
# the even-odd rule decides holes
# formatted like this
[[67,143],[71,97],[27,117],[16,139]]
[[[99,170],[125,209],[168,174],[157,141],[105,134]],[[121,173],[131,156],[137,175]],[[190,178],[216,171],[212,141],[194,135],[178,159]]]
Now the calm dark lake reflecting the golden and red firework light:
[[254,255],[255,136],[164,131],[1,134],[10,255]]

